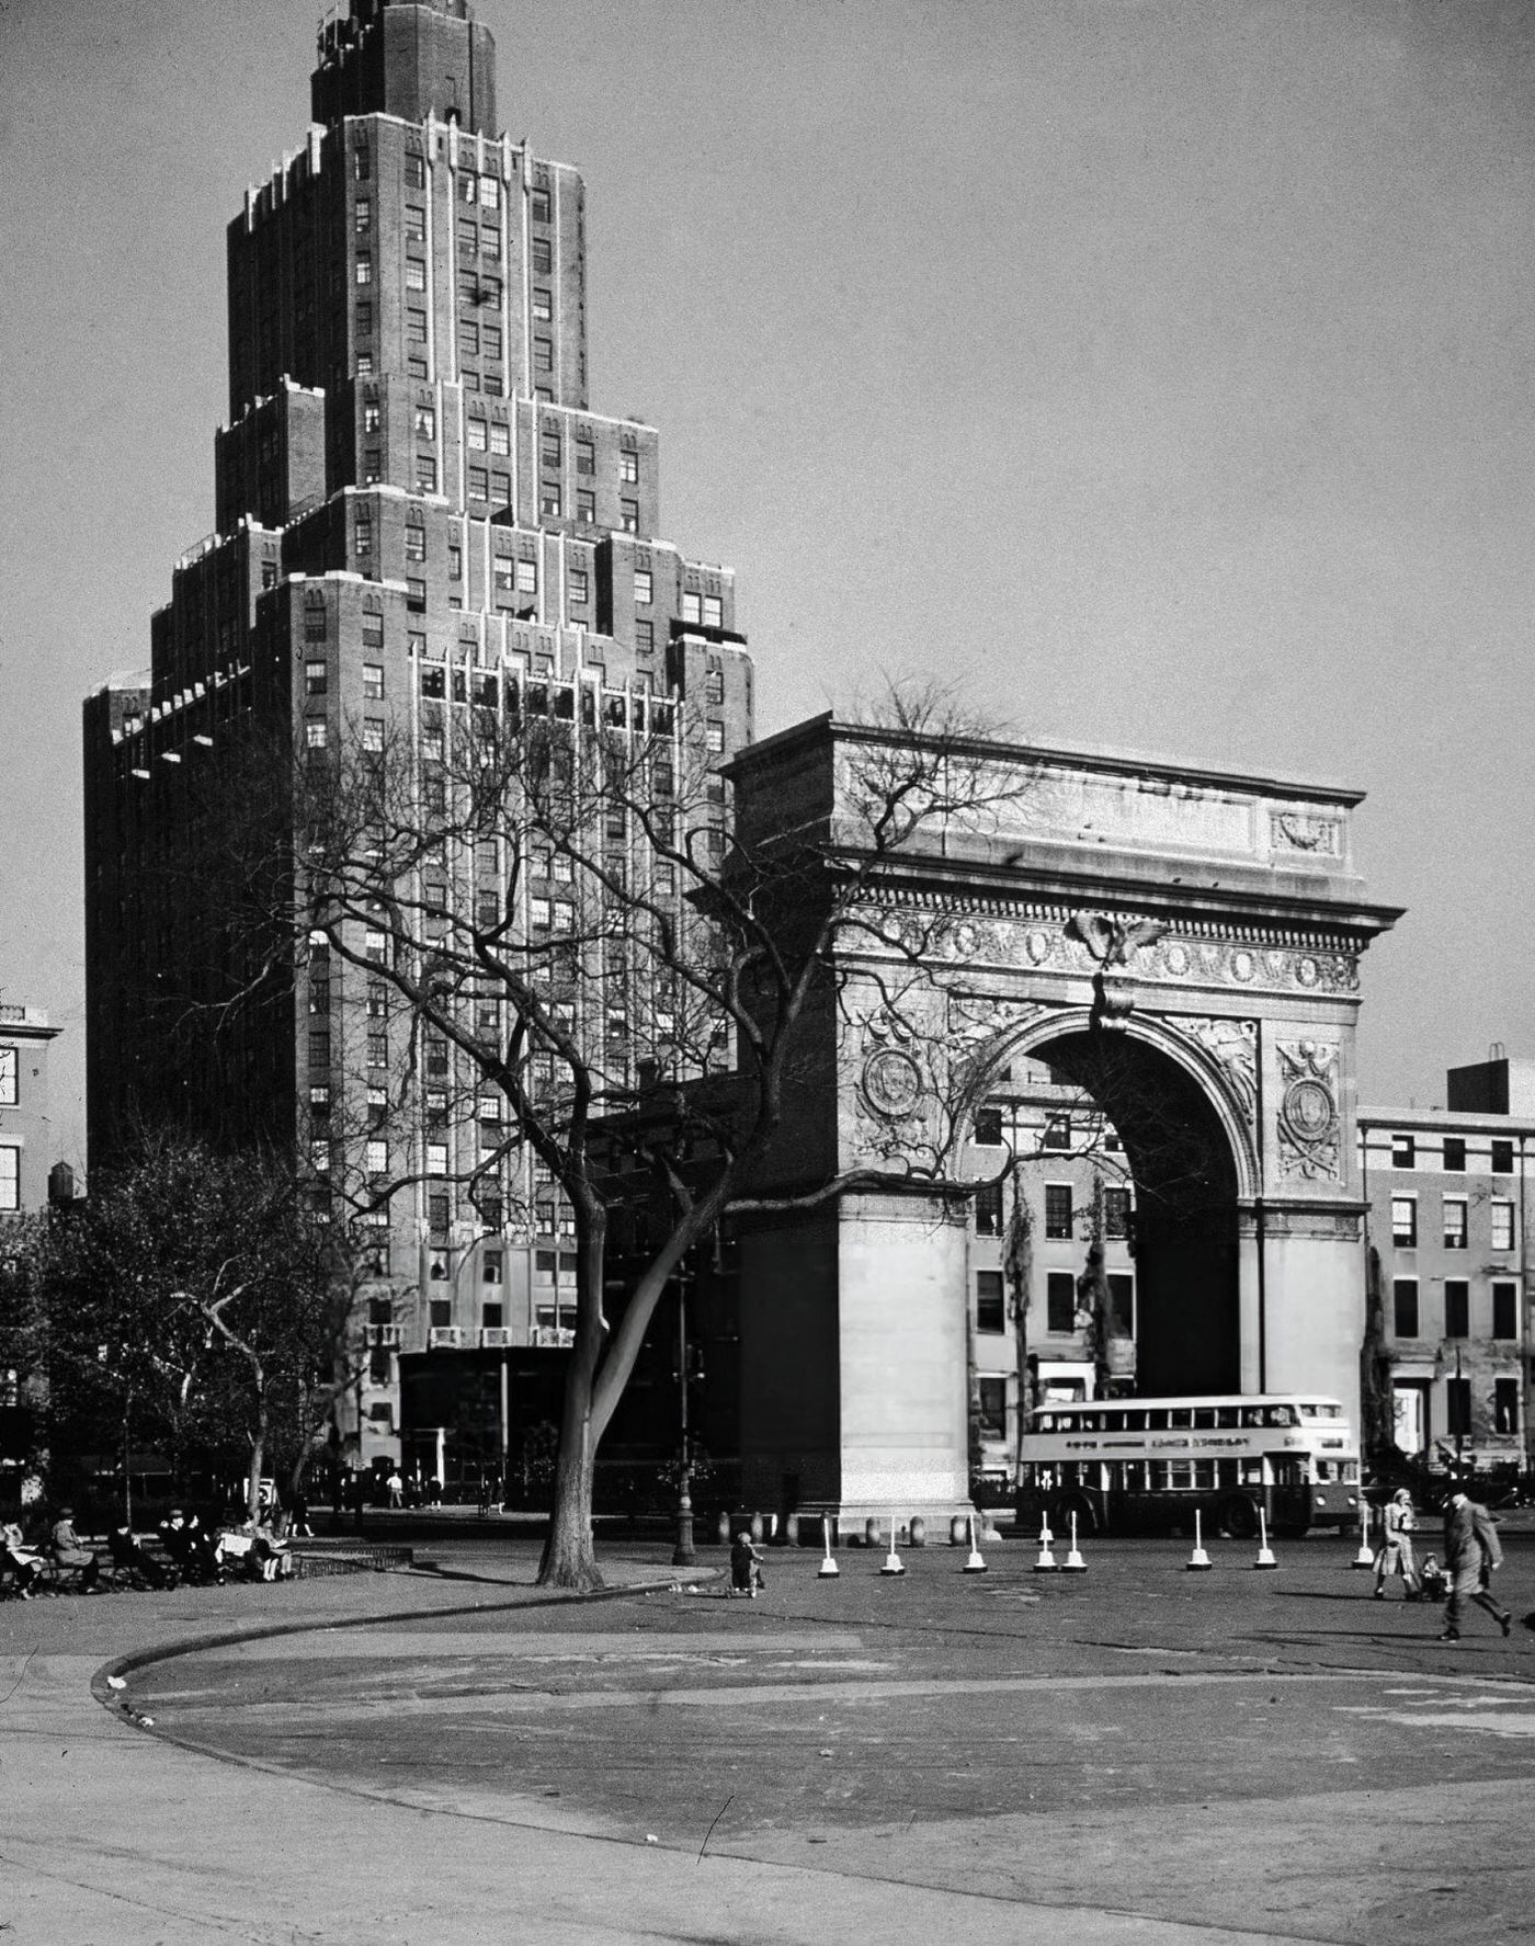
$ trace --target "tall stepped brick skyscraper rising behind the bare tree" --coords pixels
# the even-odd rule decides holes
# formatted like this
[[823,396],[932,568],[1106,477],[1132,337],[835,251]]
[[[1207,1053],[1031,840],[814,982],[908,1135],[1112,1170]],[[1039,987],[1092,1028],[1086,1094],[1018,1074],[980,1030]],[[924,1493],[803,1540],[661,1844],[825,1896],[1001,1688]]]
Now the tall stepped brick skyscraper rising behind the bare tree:
[[[232,222],[228,290],[214,533],[175,566],[150,671],[86,703],[93,1162],[165,1115],[319,1156],[366,1086],[340,1053],[374,1004],[354,967],[315,955],[218,1031],[196,1008],[218,989],[187,950],[198,887],[156,864],[220,749],[276,724],[323,751],[385,714],[432,739],[512,685],[720,759],[751,738],[732,572],[660,537],[654,428],[588,409],[582,179],[498,132],[465,0],[352,0],[321,27],[307,138]],[[467,1210],[430,1175],[469,1138],[426,1142],[379,1238],[364,1463],[401,1456],[399,1354],[440,1401],[451,1354],[562,1337],[558,1203],[508,1185],[523,1234]],[[416,1417],[430,1446],[447,1411]]]

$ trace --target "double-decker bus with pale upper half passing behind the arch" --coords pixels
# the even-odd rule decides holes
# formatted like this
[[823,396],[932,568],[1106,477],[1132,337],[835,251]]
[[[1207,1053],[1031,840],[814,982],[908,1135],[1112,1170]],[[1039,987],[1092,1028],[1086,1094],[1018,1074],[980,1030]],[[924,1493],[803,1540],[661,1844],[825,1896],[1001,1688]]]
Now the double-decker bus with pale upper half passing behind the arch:
[[1082,1533],[1249,1539],[1358,1518],[1360,1450],[1337,1399],[1265,1393],[1045,1405],[1019,1440],[1017,1518]]

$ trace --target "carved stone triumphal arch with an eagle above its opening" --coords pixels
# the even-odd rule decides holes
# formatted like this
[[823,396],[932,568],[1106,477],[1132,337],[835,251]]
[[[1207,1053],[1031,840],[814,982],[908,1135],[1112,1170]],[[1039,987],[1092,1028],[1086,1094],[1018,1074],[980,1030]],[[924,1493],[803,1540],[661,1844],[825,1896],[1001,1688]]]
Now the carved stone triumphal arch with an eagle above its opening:
[[[817,718],[735,759],[743,835],[860,845],[887,732]],[[1399,917],[1358,792],[975,743],[984,815],[879,866],[811,1014],[784,1183],[965,1154],[1029,1059],[1091,1096],[1136,1191],[1136,1389],[1319,1391],[1358,1424],[1360,957]],[[971,1168],[971,1175],[975,1170]],[[739,1257],[747,1504],[969,1502],[971,1199],[903,1187],[757,1218]]]

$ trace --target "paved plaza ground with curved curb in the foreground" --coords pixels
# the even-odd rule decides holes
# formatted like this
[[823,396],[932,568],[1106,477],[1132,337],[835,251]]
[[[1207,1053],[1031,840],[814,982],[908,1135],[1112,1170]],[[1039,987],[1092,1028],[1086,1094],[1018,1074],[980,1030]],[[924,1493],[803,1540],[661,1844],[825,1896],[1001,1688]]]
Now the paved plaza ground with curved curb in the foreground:
[[[1535,1600],[1508,1535],[1500,1592]],[[0,1611],[18,1942],[1529,1940],[1535,1637],[1352,1545],[724,1553],[549,1602],[434,1572]],[[274,1633],[276,1631],[276,1633]],[[119,1674],[126,1685],[109,1687]],[[109,1705],[109,1707],[103,1707]]]

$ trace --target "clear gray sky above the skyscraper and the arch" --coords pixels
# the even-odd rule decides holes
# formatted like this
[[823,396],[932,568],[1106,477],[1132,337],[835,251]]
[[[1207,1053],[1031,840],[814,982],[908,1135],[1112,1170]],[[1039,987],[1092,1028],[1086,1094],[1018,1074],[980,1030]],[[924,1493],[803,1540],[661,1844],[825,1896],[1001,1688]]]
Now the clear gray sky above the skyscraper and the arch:
[[[224,226],[311,0],[0,0],[0,991],[80,1156],[80,699],[212,525]],[[588,183],[591,389],[761,730],[938,669],[1370,792],[1362,1096],[1535,1053],[1529,0],[482,0]]]

